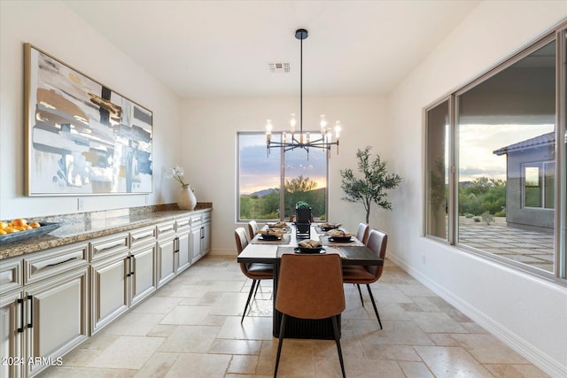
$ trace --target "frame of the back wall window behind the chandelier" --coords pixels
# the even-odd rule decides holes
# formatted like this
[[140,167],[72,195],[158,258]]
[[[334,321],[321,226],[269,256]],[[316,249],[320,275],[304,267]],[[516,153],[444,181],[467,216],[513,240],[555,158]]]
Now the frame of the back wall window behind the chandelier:
[[[319,131],[309,131],[307,130],[306,133],[310,135],[317,135],[320,134]],[[237,145],[236,145],[236,154],[237,154],[237,167],[236,167],[236,199],[235,199],[235,221],[236,223],[247,223],[250,220],[243,220],[240,218],[240,135],[261,135],[264,138],[266,137],[266,133],[262,131],[237,131]],[[277,135],[277,137],[281,138],[283,135],[283,131],[272,131],[272,138]],[[317,149],[319,150],[319,149]],[[266,150],[268,154],[268,149]],[[306,158],[307,159],[307,158]],[[327,219],[329,219],[329,160],[330,160],[330,153],[329,151],[326,153],[325,158],[325,215]],[[280,147],[280,180],[279,180],[279,194],[280,194],[280,218],[275,220],[285,220],[285,212],[282,212],[281,209],[285,209],[285,191],[283,190],[285,186],[285,151],[284,147]],[[270,220],[260,220],[262,222],[270,221]]]

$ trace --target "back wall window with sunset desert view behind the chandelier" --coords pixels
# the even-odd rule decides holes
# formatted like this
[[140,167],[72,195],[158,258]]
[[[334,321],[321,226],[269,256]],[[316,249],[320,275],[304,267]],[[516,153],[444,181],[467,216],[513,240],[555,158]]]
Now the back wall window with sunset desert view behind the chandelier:
[[[275,141],[280,137],[272,134]],[[326,150],[272,149],[268,154],[266,135],[260,133],[238,133],[237,143],[237,221],[287,220],[298,201],[311,205],[315,220],[326,219]]]

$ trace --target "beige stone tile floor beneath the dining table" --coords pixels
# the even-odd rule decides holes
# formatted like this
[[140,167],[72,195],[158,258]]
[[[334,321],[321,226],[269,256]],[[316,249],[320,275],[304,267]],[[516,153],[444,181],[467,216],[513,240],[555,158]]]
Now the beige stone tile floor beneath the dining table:
[[[268,377],[271,281],[243,324],[250,280],[234,257],[208,256],[92,336],[45,377]],[[345,286],[341,344],[349,377],[546,377],[387,260],[372,284],[384,329],[365,294]],[[285,339],[278,376],[339,377],[335,343]]]

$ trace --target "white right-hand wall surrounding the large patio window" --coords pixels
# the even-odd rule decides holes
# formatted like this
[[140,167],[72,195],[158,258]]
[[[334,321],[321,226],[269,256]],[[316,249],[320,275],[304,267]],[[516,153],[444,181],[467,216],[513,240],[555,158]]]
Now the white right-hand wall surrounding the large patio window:
[[[405,178],[386,214],[400,266],[553,376],[567,376],[567,289],[423,238],[423,107],[567,16],[567,2],[483,2],[389,96],[391,150]],[[403,137],[402,137],[403,135]]]

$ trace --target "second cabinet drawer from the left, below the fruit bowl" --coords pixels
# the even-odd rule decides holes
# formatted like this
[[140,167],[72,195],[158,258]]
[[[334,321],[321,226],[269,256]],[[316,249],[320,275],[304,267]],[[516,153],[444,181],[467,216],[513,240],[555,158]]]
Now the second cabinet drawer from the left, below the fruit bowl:
[[87,266],[87,244],[74,244],[24,258],[24,284]]

